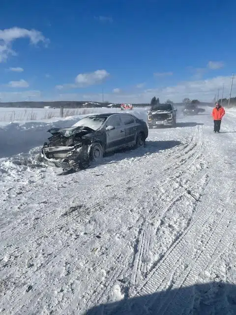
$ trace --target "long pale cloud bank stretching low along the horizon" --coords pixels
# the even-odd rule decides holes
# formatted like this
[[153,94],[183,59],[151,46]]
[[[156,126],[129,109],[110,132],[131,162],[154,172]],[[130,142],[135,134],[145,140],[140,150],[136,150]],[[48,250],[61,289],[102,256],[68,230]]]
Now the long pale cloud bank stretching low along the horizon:
[[[181,102],[184,97],[190,99],[199,99],[201,101],[212,101],[214,95],[217,95],[220,89],[222,92],[222,85],[225,85],[224,96],[228,97],[231,76],[217,76],[207,80],[192,80],[179,82],[177,85],[166,86],[164,88],[155,89],[140,89],[139,93],[132,93],[130,91],[121,91],[120,93],[104,94],[104,99],[114,103],[149,103],[150,99],[155,95],[160,98],[161,102],[166,99],[171,99],[174,102]],[[137,90],[134,90],[137,91]],[[232,96],[236,96],[236,82],[233,85]],[[15,93],[0,93],[1,101],[6,100],[21,100],[22,98],[32,97],[35,100],[42,100],[39,91],[36,92],[15,92]],[[102,101],[102,93],[85,95],[83,93],[68,93],[49,95],[50,100],[83,100],[88,101]]]

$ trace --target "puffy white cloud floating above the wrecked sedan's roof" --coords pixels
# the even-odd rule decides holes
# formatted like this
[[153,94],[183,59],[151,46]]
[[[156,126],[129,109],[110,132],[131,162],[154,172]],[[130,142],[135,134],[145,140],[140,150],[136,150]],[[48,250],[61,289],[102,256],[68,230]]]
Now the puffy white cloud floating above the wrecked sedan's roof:
[[62,90],[88,87],[90,85],[102,83],[109,77],[109,75],[110,73],[104,69],[96,70],[94,72],[80,73],[76,76],[75,83],[57,85],[56,89]]

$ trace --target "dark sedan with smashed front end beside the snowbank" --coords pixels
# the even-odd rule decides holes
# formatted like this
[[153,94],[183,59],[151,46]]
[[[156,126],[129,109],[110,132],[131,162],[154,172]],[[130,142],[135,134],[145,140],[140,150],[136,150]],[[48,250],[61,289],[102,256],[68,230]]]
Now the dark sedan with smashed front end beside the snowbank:
[[147,124],[126,114],[98,114],[81,119],[72,127],[51,128],[41,151],[44,161],[63,170],[89,166],[105,153],[126,147],[141,147],[148,137]]

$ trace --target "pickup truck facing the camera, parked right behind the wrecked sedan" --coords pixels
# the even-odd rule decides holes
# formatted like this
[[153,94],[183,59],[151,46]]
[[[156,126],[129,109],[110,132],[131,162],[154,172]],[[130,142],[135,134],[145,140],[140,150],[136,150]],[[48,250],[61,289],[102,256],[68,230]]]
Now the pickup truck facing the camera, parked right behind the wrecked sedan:
[[172,104],[152,105],[148,112],[148,127],[176,126],[176,112]]

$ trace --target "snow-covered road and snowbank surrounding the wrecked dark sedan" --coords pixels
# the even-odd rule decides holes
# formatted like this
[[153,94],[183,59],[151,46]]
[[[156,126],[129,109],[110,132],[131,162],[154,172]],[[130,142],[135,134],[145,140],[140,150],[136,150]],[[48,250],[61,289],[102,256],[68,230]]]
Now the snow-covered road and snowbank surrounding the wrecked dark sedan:
[[80,117],[2,126],[0,314],[236,314],[236,111],[210,112],[66,176],[22,164]]

